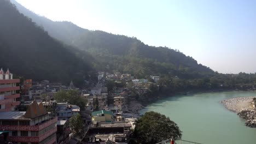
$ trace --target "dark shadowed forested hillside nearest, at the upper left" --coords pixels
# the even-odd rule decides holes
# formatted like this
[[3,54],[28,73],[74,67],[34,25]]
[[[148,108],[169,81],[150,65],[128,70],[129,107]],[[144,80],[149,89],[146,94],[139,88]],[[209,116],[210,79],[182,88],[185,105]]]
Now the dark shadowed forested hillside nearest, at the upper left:
[[90,63],[73,53],[77,50],[51,38],[8,1],[0,1],[0,21],[0,67],[52,82],[70,82],[91,70]]

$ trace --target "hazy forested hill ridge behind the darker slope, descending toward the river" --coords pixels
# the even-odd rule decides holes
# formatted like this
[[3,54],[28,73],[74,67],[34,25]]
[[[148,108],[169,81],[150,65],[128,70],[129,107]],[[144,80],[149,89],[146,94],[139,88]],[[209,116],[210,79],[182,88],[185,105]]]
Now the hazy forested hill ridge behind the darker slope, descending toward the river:
[[124,35],[89,31],[71,22],[54,22],[32,13],[14,0],[12,2],[21,13],[44,27],[52,37],[90,52],[98,62],[94,65],[97,70],[132,73],[136,77],[168,74],[185,79],[214,73],[210,68],[198,64],[195,59],[177,50],[148,46],[136,38]]

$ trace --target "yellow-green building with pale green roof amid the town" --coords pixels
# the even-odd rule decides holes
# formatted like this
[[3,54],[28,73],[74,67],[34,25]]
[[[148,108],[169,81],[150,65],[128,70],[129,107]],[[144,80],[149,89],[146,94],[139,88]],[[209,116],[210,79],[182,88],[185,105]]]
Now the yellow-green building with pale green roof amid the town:
[[94,111],[91,113],[91,121],[92,122],[113,122],[114,120],[114,114],[112,111]]

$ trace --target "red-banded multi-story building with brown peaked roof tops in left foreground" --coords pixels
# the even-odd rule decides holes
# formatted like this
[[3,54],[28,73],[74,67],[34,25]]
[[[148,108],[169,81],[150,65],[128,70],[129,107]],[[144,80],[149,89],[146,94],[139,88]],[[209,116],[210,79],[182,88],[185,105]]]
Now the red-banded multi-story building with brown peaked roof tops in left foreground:
[[56,143],[57,117],[50,117],[42,103],[32,101],[26,112],[0,112],[0,131],[5,142]]

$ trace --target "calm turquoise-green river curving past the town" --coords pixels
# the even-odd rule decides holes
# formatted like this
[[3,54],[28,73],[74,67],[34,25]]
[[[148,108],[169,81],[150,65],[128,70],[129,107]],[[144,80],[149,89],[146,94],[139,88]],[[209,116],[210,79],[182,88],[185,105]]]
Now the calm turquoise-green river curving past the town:
[[199,143],[256,143],[256,128],[246,127],[245,120],[230,112],[220,100],[256,96],[256,92],[214,92],[176,95],[156,101],[141,110],[160,112],[183,131],[183,140]]

